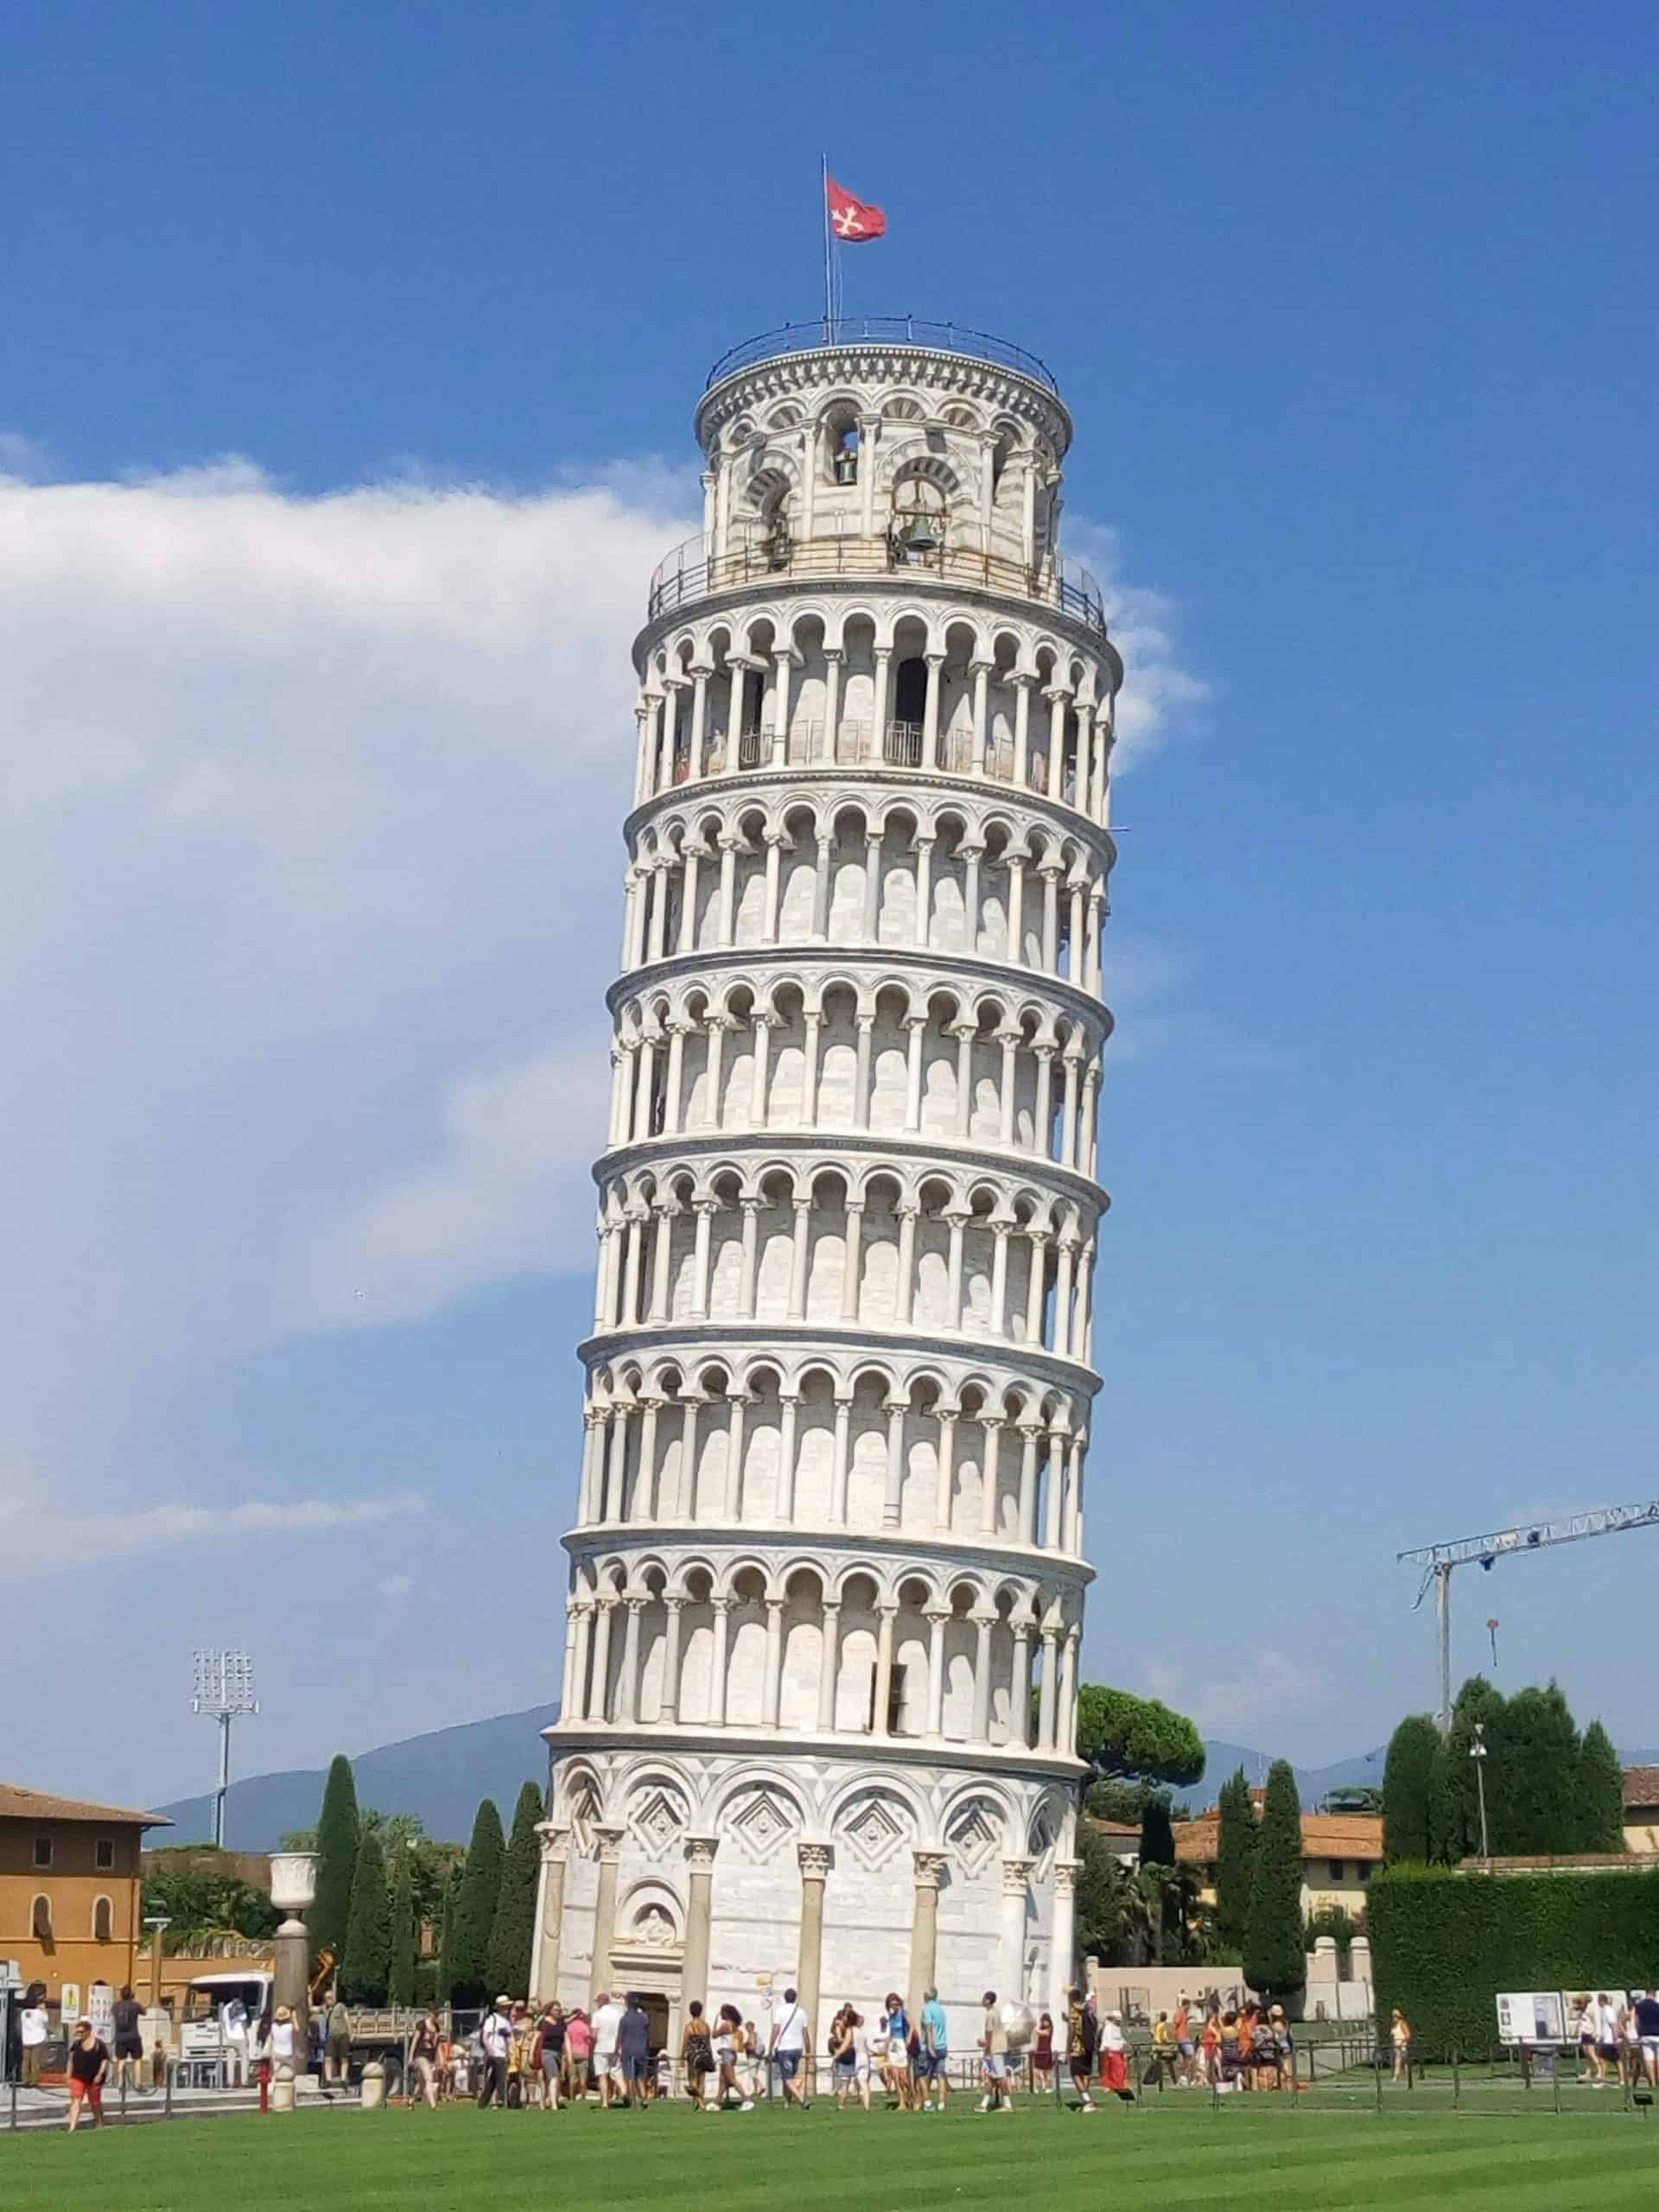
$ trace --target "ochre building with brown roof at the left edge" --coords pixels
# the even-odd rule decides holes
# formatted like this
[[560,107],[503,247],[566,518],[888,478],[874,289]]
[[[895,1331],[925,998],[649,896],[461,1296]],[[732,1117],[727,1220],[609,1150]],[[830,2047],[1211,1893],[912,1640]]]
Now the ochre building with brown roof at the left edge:
[[119,1989],[137,1975],[139,1840],[159,1814],[0,1783],[0,1958],[24,1984]]

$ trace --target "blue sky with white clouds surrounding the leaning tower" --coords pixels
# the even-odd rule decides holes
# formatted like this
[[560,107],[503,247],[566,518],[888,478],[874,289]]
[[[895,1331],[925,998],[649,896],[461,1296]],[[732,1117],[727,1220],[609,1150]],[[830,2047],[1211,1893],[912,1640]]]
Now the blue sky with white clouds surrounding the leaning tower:
[[[197,1639],[257,1765],[551,1694],[626,641],[821,144],[849,310],[1055,367],[1157,672],[1091,1670],[1358,1750],[1431,1694],[1398,1546],[1657,1486],[1652,11],[71,0],[4,60],[0,1577],[146,1710],[7,1699],[0,1770],[199,1785]],[[1498,1615],[1652,1743],[1652,1571],[1464,1584],[1458,1663]]]

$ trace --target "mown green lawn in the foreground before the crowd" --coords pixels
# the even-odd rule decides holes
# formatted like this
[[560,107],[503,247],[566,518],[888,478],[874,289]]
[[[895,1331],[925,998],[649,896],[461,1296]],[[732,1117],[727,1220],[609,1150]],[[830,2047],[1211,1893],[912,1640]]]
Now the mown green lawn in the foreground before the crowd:
[[1648,2212],[1659,2201],[1659,2128],[1597,2117],[1053,2108],[975,2117],[692,2115],[597,2110],[316,2112],[208,2119],[102,2135],[0,2137],[7,2212],[223,2212],[226,2205],[347,2205],[396,2212],[538,2205],[889,2212],[918,2205],[1502,2208]]

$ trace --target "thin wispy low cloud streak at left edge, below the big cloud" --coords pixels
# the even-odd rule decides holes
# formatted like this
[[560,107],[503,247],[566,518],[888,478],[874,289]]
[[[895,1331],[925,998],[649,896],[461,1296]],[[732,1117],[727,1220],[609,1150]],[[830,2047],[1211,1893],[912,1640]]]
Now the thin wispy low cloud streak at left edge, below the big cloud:
[[64,1568],[102,1566],[181,1544],[319,1535],[422,1513],[425,1498],[248,1498],[234,1506],[146,1506],[139,1513],[75,1513],[42,1498],[0,1500],[0,1582],[33,1582]]

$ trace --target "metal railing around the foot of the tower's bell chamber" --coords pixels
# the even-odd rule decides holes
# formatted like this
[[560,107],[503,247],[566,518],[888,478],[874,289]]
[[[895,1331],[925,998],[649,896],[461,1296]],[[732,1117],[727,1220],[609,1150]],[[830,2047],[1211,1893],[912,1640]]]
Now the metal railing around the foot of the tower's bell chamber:
[[964,542],[960,526],[942,544],[918,551],[902,531],[845,531],[825,538],[745,538],[726,553],[710,553],[699,531],[675,546],[650,580],[646,619],[708,599],[721,591],[741,591],[754,582],[823,582],[825,577],[936,575],[947,584],[978,584],[982,591],[1009,593],[1015,599],[1040,599],[1060,608],[1073,622],[1106,635],[1106,602],[1099,584],[1075,562],[1044,557],[1035,564],[1018,553]]

